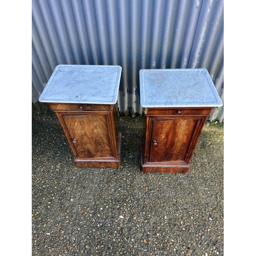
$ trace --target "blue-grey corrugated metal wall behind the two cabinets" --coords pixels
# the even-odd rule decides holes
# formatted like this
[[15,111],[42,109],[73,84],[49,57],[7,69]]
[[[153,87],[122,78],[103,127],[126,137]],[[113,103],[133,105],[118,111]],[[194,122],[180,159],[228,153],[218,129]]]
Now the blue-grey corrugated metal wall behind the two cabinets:
[[32,102],[59,64],[120,65],[120,112],[142,113],[140,69],[206,68],[223,101],[223,23],[223,0],[33,0]]

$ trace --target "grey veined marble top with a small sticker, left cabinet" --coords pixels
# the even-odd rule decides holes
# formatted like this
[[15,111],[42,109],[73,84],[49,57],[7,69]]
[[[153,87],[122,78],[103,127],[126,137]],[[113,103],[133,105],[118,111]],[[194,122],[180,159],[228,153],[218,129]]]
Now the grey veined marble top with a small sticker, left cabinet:
[[121,70],[110,65],[58,65],[39,101],[115,104]]

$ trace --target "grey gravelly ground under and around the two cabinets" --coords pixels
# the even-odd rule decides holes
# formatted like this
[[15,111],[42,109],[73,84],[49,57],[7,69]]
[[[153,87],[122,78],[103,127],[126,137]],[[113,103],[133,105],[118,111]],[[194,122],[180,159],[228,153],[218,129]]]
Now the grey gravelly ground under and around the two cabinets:
[[119,119],[120,168],[77,168],[55,114],[32,117],[32,255],[224,255],[223,124],[187,174],[144,174],[140,118]]

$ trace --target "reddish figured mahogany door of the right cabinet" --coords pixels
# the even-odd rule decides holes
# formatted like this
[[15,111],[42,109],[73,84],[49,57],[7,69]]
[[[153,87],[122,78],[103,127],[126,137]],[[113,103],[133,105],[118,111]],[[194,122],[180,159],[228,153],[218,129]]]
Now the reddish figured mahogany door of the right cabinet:
[[184,161],[198,119],[154,120],[150,162]]

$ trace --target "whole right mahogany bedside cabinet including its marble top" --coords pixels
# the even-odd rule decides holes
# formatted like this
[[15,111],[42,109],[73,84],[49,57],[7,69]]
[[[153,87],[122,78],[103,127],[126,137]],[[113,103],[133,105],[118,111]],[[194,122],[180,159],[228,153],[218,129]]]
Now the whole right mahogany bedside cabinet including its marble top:
[[204,123],[220,96],[206,69],[140,70],[144,173],[187,173]]

